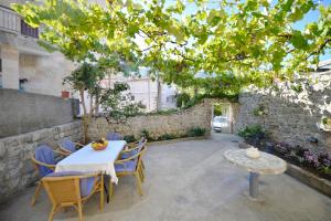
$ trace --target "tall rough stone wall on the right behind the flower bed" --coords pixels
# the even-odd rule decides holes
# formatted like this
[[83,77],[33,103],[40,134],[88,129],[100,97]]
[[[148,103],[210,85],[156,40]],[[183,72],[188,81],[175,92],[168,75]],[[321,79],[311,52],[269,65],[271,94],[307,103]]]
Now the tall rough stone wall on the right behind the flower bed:
[[[259,124],[276,141],[331,151],[331,133],[318,127],[323,116],[331,117],[331,72],[278,83],[268,90],[250,90],[239,96],[239,104],[236,128]],[[263,114],[256,116],[259,107]],[[311,137],[318,144],[307,140]]]

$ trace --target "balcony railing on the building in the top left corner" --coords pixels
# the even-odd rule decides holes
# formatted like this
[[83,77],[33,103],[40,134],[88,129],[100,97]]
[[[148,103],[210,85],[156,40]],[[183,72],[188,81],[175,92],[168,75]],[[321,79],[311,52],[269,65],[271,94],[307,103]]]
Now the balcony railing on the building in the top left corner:
[[11,9],[0,4],[0,30],[25,36],[39,38],[39,29],[26,24],[24,20]]

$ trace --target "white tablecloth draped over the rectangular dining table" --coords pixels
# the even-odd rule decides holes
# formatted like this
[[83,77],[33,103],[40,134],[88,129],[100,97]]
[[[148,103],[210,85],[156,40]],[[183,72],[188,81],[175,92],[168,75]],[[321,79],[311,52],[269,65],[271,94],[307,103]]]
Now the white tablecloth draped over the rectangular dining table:
[[125,140],[108,141],[108,146],[104,150],[94,150],[90,147],[90,144],[86,145],[82,149],[58,161],[55,172],[104,172],[111,177],[111,182],[117,183],[118,178],[116,177],[114,161],[117,159],[126,144]]

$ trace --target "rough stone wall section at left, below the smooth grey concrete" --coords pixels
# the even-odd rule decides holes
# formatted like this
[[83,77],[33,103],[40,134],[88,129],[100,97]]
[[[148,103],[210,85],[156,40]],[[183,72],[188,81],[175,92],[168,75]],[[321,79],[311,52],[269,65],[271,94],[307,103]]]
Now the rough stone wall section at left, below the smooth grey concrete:
[[0,139],[0,202],[9,199],[38,179],[31,155],[40,144],[56,147],[58,140],[83,138],[82,122],[58,125]]

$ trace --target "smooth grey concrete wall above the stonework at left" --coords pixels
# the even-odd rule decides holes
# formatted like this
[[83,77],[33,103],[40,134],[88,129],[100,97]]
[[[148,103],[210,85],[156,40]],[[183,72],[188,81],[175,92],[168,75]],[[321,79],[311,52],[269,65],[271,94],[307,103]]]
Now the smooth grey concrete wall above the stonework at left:
[[0,88],[0,138],[74,120],[74,99]]

